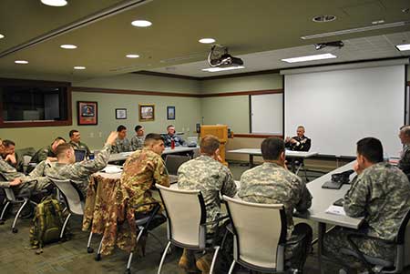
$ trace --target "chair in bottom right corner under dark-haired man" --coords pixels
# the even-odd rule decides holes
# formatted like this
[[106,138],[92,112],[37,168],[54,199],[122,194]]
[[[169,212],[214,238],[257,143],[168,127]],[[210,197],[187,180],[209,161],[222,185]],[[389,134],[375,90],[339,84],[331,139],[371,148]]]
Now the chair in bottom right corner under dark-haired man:
[[[387,241],[381,238],[374,238],[363,233],[352,233],[347,237],[352,249],[341,249],[341,252],[346,255],[354,256],[364,262],[364,265],[370,273],[401,273],[403,269],[410,265],[410,210],[403,218],[397,236],[393,241]],[[353,238],[374,238],[386,243],[391,243],[395,247],[395,260],[389,261],[386,259],[374,258],[362,253]]]

